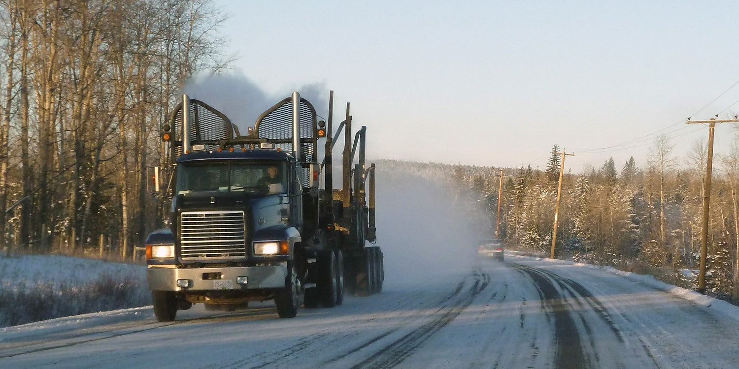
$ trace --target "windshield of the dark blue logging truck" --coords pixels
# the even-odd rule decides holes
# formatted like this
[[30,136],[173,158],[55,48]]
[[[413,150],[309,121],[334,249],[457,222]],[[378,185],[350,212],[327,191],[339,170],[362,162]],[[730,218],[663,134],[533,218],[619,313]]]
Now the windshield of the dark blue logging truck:
[[177,194],[198,191],[284,193],[287,190],[285,173],[282,162],[184,162],[177,165]]

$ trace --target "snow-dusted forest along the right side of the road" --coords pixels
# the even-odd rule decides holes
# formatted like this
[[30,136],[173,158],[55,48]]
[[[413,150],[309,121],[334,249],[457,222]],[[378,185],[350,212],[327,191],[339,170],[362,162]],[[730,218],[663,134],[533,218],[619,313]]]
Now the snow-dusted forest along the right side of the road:
[[[590,173],[562,176],[555,257],[614,266],[696,288],[701,255],[707,149],[696,142],[675,156],[670,139],[657,137],[646,162],[613,159]],[[428,179],[446,179],[488,221],[487,234],[509,247],[549,255],[562,157],[554,145],[545,170],[438,163],[383,162]],[[739,296],[739,150],[717,156],[709,207],[706,293]],[[502,174],[502,176],[501,176]],[[500,193],[500,202],[499,202]],[[499,206],[500,204],[500,206]],[[497,222],[500,213],[500,223]],[[688,275],[688,277],[686,276]]]

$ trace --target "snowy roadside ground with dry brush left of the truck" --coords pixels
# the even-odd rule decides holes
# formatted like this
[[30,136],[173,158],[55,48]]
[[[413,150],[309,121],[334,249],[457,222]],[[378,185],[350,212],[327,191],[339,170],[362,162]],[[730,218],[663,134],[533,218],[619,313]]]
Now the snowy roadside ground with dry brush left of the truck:
[[0,327],[149,305],[145,270],[60,255],[0,256]]

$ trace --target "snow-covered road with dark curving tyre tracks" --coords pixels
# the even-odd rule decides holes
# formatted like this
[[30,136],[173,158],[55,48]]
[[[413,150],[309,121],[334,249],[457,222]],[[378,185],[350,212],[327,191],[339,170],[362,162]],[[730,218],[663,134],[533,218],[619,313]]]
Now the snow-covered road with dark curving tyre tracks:
[[736,368],[739,322],[599,269],[507,255],[282,320],[270,303],[0,331],[0,368]]

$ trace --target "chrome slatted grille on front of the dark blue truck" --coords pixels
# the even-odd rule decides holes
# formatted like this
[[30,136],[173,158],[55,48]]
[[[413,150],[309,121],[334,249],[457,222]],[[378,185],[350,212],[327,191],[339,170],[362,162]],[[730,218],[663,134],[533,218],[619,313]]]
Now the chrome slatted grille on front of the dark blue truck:
[[180,215],[183,260],[246,256],[243,211],[194,211]]

